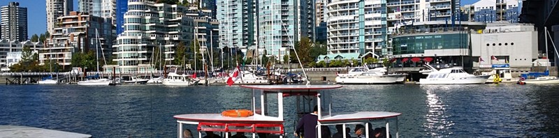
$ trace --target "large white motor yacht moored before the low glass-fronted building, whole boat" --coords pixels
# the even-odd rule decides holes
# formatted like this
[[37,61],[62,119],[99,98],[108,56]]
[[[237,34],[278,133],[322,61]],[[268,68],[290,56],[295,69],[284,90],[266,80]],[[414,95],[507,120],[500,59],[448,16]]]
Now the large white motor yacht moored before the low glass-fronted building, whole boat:
[[419,79],[419,84],[485,84],[491,75],[471,75],[463,68],[444,68],[429,72],[427,78]]

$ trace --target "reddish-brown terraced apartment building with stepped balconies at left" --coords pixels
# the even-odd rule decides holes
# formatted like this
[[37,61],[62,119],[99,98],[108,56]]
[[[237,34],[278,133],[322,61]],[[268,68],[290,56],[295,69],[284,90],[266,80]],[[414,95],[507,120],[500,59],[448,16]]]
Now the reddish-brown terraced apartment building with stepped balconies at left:
[[50,33],[50,38],[47,38],[45,49],[39,53],[39,61],[44,63],[45,60],[54,60],[61,66],[69,67],[73,53],[89,50],[95,52],[96,49],[99,49],[96,52],[99,60],[102,60],[103,55],[109,59],[113,38],[111,29],[110,20],[87,13],[73,11],[58,17],[55,29]]

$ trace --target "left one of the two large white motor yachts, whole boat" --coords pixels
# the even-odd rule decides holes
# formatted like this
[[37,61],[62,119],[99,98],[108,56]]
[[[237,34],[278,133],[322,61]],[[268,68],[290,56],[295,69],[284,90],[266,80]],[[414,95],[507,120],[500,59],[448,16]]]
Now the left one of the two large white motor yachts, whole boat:
[[387,75],[386,68],[379,67],[369,69],[366,65],[352,68],[347,74],[337,74],[335,80],[338,84],[392,84],[403,82],[405,74]]

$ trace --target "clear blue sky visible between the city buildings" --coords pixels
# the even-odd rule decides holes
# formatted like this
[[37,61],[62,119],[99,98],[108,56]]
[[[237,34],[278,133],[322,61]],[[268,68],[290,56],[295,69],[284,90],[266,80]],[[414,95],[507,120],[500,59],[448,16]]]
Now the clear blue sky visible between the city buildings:
[[[0,6],[6,6],[11,1],[19,2],[20,6],[27,7],[27,29],[29,38],[33,34],[47,31],[47,10],[45,0],[0,0]],[[462,5],[475,3],[479,0],[461,0]],[[78,0],[74,0],[74,10],[78,10]]]

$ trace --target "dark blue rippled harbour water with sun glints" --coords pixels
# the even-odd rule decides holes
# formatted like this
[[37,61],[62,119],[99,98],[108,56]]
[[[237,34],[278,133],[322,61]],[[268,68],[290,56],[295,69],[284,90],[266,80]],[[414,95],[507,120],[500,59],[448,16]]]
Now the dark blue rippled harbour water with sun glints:
[[[354,85],[334,91],[333,108],[400,112],[400,137],[559,137],[558,89]],[[173,115],[249,109],[251,94],[238,86],[0,86],[0,125],[94,137],[176,137]],[[293,112],[286,107],[286,114]],[[288,131],[292,122],[286,118]]]

